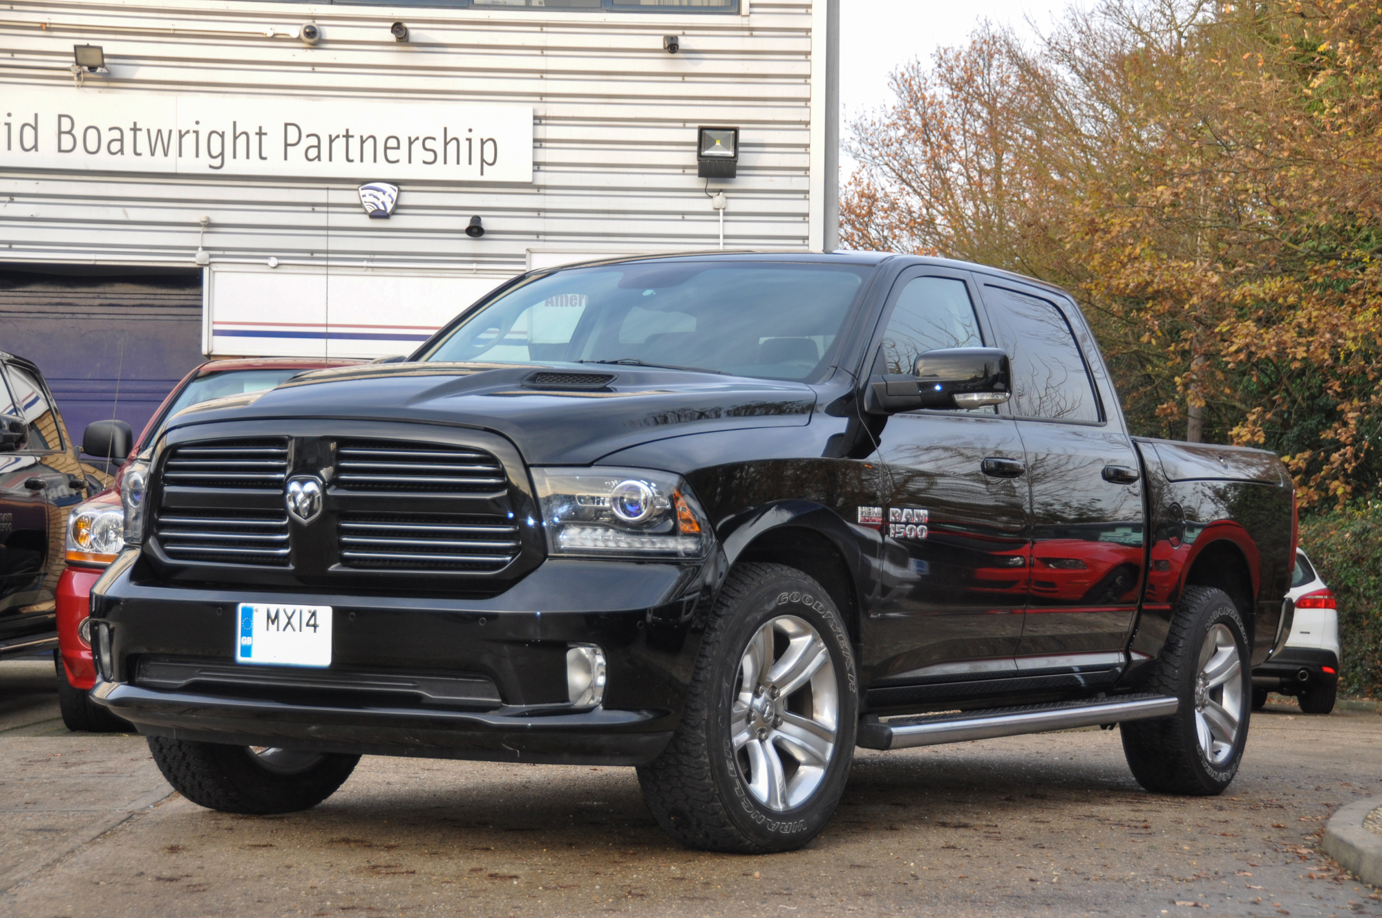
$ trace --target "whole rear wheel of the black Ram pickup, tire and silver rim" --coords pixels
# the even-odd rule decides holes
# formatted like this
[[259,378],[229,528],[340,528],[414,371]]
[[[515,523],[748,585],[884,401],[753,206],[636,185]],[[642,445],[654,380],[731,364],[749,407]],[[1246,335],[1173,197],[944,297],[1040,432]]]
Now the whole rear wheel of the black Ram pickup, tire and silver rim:
[[1147,683],[1175,695],[1169,718],[1119,727],[1133,777],[1148,791],[1211,796],[1238,773],[1248,741],[1252,672],[1247,629],[1223,590],[1187,586]]

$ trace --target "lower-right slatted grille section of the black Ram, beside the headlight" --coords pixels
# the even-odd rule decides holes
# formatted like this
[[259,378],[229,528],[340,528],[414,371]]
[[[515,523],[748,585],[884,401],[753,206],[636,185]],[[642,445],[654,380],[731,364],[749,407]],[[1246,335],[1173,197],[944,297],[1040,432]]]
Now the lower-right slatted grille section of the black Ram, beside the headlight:
[[341,564],[352,568],[495,572],[520,550],[504,517],[355,513],[340,520]]

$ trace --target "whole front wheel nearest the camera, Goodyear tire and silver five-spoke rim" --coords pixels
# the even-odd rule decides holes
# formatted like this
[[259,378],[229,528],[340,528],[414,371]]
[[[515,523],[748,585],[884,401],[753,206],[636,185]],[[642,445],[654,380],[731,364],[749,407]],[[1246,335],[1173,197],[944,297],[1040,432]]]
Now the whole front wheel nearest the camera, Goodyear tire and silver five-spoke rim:
[[835,813],[854,755],[857,677],[829,594],[781,564],[744,564],[701,644],[681,724],[638,769],[658,824],[688,847],[800,847]]

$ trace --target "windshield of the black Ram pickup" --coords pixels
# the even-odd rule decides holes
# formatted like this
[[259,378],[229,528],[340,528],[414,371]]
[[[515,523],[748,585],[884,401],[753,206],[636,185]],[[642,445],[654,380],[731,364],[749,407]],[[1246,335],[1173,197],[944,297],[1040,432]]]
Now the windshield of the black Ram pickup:
[[785,261],[569,268],[509,290],[413,359],[645,364],[814,380],[872,270]]

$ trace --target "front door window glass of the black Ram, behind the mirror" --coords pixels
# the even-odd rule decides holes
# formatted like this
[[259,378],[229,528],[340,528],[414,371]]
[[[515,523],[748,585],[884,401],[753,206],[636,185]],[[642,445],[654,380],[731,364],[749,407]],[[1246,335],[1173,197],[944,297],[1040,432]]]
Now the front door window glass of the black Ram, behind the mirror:
[[911,373],[916,358],[943,347],[983,347],[969,289],[955,278],[914,278],[883,330],[886,373]]

